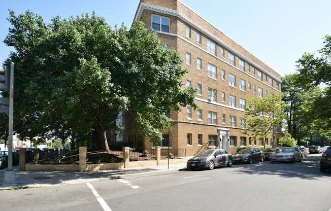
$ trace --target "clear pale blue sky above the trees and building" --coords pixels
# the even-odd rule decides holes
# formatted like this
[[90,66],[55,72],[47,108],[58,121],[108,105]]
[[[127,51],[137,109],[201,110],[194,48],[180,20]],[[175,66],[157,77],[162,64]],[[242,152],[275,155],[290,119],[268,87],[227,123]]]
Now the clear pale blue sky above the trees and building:
[[[331,34],[329,0],[182,0],[227,36],[267,63],[282,76],[295,71],[295,61],[304,52],[315,53],[322,38]],[[139,0],[11,0],[0,8],[0,40],[5,39],[8,9],[22,13],[29,9],[46,21],[95,11],[109,24],[130,26]],[[13,50],[0,43],[0,62]]]

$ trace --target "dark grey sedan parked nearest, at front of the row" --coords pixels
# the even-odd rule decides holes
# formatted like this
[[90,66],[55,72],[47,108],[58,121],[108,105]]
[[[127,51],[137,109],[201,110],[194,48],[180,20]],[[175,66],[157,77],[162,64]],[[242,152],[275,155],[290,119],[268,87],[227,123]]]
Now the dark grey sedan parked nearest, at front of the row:
[[230,153],[222,149],[204,150],[189,159],[186,163],[188,169],[194,168],[209,168],[214,169],[215,166],[233,164],[233,157]]

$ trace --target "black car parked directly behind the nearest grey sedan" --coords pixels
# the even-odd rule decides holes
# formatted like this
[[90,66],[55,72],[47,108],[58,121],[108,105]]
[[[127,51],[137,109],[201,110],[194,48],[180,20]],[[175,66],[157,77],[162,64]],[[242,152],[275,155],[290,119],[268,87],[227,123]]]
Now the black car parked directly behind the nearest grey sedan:
[[245,148],[234,155],[234,163],[263,162],[263,153],[258,148]]

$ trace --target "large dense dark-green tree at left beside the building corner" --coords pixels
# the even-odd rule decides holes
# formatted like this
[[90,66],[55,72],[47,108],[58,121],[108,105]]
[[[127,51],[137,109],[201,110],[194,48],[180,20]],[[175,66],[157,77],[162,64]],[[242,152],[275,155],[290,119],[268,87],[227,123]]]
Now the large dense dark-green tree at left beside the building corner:
[[15,52],[5,63],[16,63],[14,129],[22,139],[69,137],[72,146],[109,150],[106,131],[129,111],[140,134],[159,142],[170,127],[164,112],[196,108],[195,90],[181,88],[180,55],[142,22],[113,29],[93,13],[47,24],[30,11],[10,11],[8,20],[5,43]]

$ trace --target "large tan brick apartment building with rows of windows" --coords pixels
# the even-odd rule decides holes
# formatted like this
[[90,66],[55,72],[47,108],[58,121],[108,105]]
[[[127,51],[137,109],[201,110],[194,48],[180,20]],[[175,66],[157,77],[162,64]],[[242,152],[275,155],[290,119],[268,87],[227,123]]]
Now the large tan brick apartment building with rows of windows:
[[[199,108],[172,112],[171,143],[164,134],[158,146],[170,144],[193,155],[207,148],[262,145],[242,134],[242,117],[250,96],[280,92],[278,73],[178,0],[141,0],[135,20],[153,28],[162,43],[178,51],[189,71],[184,84],[197,89]],[[138,141],[137,128],[126,126],[125,139]],[[153,148],[148,138],[141,144]]]

